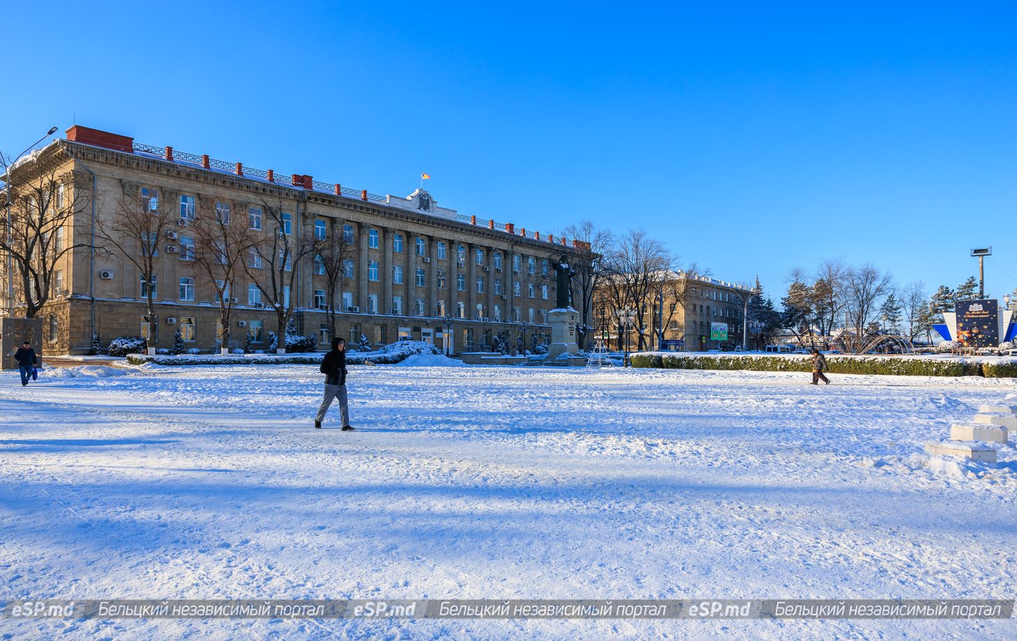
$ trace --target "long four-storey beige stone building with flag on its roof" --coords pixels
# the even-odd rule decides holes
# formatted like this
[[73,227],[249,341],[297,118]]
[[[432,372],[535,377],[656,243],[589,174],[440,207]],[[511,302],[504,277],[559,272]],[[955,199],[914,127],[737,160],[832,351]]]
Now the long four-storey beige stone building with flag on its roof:
[[[60,241],[75,247],[57,265],[51,298],[38,314],[42,347],[49,353],[82,353],[94,333],[103,346],[114,337],[145,335],[149,286],[158,300],[161,347],[171,347],[178,330],[187,348],[219,347],[217,289],[196,268],[193,232],[188,233],[196,213],[213,211],[213,202],[216,212],[232,212],[232,224],[242,222],[257,233],[273,232],[262,218],[265,198],[287,210],[287,233],[294,238],[321,234],[324,222],[335,223],[327,229],[340,229],[350,248],[335,297],[340,301],[336,332],[354,342],[365,336],[373,345],[405,337],[433,342],[447,353],[482,351],[500,332],[510,335],[512,345],[521,334],[527,347],[545,342],[550,333],[546,313],[555,301],[549,264],[588,250],[579,241],[460,215],[438,207],[423,189],[407,197],[379,196],[305,174],[284,178],[170,147],[137,144],[76,125],[13,175],[31,174],[41,163],[73,176],[70,189],[95,195],[94,210],[76,212],[68,229],[59,230]],[[122,253],[94,240],[97,224],[103,228],[124,194],[138,190],[179,212],[173,229],[157,241],[160,255],[151,285]],[[92,246],[98,247],[95,253]],[[292,302],[287,302],[300,333],[314,335],[324,348],[330,340],[326,279],[310,255],[292,270],[294,285],[285,292]],[[243,347],[250,333],[254,348],[266,349],[268,332],[278,331],[277,315],[249,274],[234,282],[230,347]],[[13,315],[24,314],[19,301],[23,297],[15,291]]]

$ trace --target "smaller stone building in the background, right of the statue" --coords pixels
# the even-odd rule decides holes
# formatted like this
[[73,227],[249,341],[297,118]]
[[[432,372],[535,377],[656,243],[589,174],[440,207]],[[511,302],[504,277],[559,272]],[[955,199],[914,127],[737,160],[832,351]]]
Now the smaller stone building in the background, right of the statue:
[[[745,330],[745,302],[750,288],[707,276],[675,273],[664,279],[636,314],[642,313],[646,349],[663,347],[675,351],[731,350],[741,345]],[[617,294],[603,285],[594,294],[596,338],[605,346],[624,349],[624,325],[618,320]],[[661,300],[663,306],[661,306]],[[639,349],[638,318],[627,328],[629,348]],[[663,345],[658,343],[663,327]]]

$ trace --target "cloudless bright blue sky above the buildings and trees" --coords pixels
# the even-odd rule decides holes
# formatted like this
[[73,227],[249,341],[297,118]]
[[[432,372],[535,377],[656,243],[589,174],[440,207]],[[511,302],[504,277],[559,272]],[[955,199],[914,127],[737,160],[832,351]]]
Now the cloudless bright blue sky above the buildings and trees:
[[775,298],[830,256],[954,286],[981,244],[1017,286],[1013,4],[707,4],[8,3],[0,149],[76,118],[382,194],[426,171]]

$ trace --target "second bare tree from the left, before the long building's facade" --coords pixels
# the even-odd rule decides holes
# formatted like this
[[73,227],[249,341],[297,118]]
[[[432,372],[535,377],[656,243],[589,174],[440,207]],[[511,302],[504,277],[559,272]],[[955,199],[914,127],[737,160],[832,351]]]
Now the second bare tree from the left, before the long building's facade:
[[148,312],[148,346],[155,348],[159,345],[159,248],[176,230],[180,214],[169,198],[160,197],[155,187],[129,181],[121,181],[121,187],[113,215],[97,221],[96,236],[103,240],[106,251],[119,253],[137,270]]

